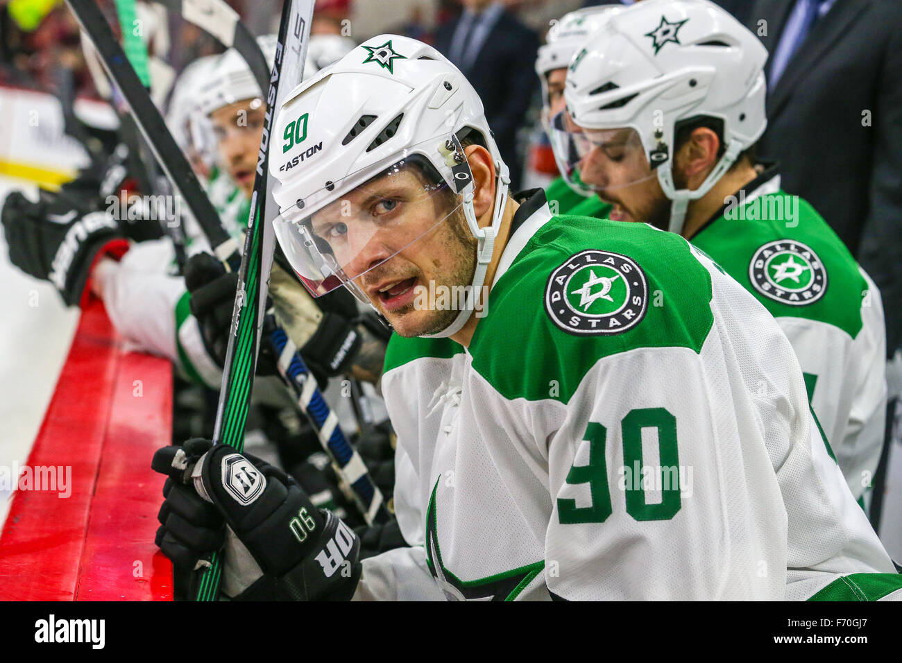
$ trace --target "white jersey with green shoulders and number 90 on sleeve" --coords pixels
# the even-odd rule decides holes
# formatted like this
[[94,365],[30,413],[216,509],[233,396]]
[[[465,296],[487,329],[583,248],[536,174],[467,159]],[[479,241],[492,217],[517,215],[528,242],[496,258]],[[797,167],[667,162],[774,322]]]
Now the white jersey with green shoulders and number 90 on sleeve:
[[[806,599],[898,576],[774,318],[682,238],[514,216],[465,350],[393,336],[411,548],[357,600]],[[893,574],[888,576],[888,574]]]

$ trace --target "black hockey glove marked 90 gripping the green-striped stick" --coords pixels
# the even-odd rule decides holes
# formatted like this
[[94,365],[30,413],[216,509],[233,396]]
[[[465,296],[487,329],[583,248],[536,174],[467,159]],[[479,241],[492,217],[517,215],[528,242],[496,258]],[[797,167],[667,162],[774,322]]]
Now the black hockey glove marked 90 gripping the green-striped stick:
[[[222,589],[227,596],[249,601],[346,601],[354,595],[362,567],[360,540],[352,529],[335,514],[318,510],[288,474],[272,465],[211,443],[198,457],[202,441],[189,443],[187,449],[160,449],[152,467],[167,474],[173,484],[193,489],[196,498],[213,506],[226,521]],[[173,491],[170,488],[170,494]],[[164,507],[167,504],[165,531],[162,537],[158,534],[164,544],[170,543],[167,534],[179,539],[186,531],[176,535],[169,522],[172,513],[184,511],[177,511],[169,497]],[[192,529],[188,536],[193,541],[185,548],[209,546],[205,556],[216,549],[215,538],[201,540],[206,525],[198,522]],[[167,548],[161,549],[169,555]]]

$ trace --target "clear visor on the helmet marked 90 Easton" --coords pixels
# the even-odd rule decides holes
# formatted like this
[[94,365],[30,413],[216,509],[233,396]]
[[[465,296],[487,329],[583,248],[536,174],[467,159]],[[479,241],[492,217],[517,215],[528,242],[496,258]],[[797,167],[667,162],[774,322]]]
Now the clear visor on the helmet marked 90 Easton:
[[[443,137],[417,148],[419,153],[408,150],[371,177],[365,177],[372,173],[367,169],[370,173],[328,182],[308,197],[309,203],[300,200],[273,221],[282,251],[311,295],[344,285],[369,301],[388,280],[390,271],[377,270],[380,265],[462,210],[473,173],[460,143]],[[442,170],[454,186],[420,149],[441,154],[446,162]]]

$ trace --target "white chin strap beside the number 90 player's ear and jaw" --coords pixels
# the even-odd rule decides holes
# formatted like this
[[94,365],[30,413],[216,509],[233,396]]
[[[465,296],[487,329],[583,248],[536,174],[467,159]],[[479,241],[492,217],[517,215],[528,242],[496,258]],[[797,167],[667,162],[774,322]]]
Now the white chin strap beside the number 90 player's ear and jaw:
[[[495,248],[495,237],[498,236],[498,230],[502,225],[504,217],[504,207],[507,205],[508,185],[511,184],[510,170],[501,160],[495,161],[495,170],[498,173],[498,189],[495,191],[495,207],[492,211],[492,225],[487,228],[480,228],[476,219],[476,213],[473,208],[473,189],[471,182],[464,189],[464,216],[466,216],[466,225],[469,226],[470,232],[478,240],[476,244],[476,269],[473,272],[473,281],[470,282],[470,289],[466,293],[464,307],[457,313],[454,321],[436,334],[424,334],[424,338],[446,338],[453,336],[459,332],[466,321],[473,315],[476,302],[482,295],[483,284],[485,282],[485,272],[489,269],[489,263],[492,262],[492,253]],[[484,305],[484,302],[483,302]]]

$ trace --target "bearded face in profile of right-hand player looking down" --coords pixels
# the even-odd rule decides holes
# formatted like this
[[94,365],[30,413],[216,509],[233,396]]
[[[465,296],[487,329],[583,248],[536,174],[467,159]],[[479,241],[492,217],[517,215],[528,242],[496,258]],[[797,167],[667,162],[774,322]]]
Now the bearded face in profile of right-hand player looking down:
[[670,202],[639,137],[631,129],[595,132],[579,162],[583,181],[613,205],[612,221],[639,221],[667,228]]

